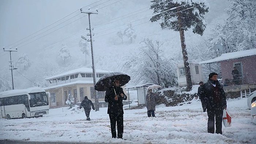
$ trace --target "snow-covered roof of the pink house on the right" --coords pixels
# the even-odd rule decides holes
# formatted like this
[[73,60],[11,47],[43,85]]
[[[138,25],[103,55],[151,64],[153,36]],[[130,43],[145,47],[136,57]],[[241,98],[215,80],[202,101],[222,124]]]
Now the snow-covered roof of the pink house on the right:
[[199,64],[209,64],[209,63],[225,61],[225,60],[230,60],[230,59],[235,59],[240,57],[253,56],[253,55],[256,55],[256,49],[242,50],[242,51],[233,52],[233,53],[223,53],[219,57],[216,57],[211,60],[199,62]]

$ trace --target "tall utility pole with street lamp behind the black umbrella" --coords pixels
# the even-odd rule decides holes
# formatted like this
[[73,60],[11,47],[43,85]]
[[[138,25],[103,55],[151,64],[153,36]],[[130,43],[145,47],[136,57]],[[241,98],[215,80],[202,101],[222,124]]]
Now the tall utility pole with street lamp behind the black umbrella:
[[[89,29],[86,28],[86,30],[89,30],[89,31],[90,31],[90,33],[87,34],[87,36],[90,35],[90,39],[87,39],[87,41],[90,41],[90,42],[91,42],[91,61],[92,61],[92,69],[93,69],[93,86],[95,86],[95,84],[96,84],[96,72],[95,72],[94,59],[93,59],[93,38],[92,38],[92,34],[91,34],[90,15],[91,15],[91,14],[98,14],[98,11],[82,10],[82,8],[80,9],[80,11],[81,11],[81,13],[88,14],[88,18],[89,18]],[[83,36],[81,36],[81,37],[84,39]],[[85,39],[85,40],[86,40],[86,39]],[[97,91],[96,91],[96,90],[93,91],[93,96],[94,96],[94,99],[95,99],[95,111],[98,111],[98,110],[99,110],[99,99],[98,99]]]

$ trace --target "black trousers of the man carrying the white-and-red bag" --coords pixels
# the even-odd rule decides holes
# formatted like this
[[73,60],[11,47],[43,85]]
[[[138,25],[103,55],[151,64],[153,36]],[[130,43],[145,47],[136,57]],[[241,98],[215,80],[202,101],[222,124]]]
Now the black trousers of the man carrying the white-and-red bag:
[[216,133],[222,134],[223,108],[221,107],[207,108],[207,115],[208,115],[208,123],[207,123],[208,133],[214,133],[214,117],[215,117]]

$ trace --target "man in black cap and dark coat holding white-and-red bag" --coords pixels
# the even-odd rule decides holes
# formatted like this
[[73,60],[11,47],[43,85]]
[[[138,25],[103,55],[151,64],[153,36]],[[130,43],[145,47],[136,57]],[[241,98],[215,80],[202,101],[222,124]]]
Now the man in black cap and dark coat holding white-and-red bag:
[[203,85],[201,102],[206,106],[208,123],[208,133],[214,133],[214,117],[216,121],[216,133],[222,134],[223,109],[227,108],[226,95],[222,85],[217,80],[218,74],[209,74],[207,83]]

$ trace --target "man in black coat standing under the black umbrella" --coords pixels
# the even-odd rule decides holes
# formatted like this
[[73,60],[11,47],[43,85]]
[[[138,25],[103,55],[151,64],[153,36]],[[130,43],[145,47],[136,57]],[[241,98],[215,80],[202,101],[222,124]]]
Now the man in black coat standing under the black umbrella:
[[115,78],[113,87],[109,87],[105,93],[105,102],[108,102],[108,114],[112,138],[116,138],[117,123],[117,138],[123,139],[124,110],[122,102],[126,99],[127,96],[124,94],[123,88],[120,87],[118,78]]

